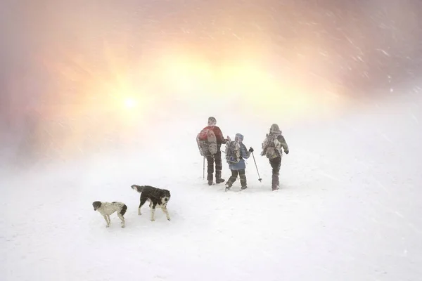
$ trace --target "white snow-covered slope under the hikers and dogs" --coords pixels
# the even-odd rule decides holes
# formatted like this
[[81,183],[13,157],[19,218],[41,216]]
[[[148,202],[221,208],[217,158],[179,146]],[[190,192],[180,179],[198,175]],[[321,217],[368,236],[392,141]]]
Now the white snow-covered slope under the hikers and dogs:
[[[158,155],[150,132],[148,148],[6,175],[1,280],[421,280],[421,106],[409,93],[296,123],[181,115],[157,126],[174,138]],[[248,190],[206,184],[195,136],[208,115],[244,134],[262,183],[251,157]],[[276,192],[259,155],[273,122],[290,145]],[[134,183],[169,189],[172,221],[138,216]],[[115,214],[106,228],[96,200],[126,203],[126,228]]]

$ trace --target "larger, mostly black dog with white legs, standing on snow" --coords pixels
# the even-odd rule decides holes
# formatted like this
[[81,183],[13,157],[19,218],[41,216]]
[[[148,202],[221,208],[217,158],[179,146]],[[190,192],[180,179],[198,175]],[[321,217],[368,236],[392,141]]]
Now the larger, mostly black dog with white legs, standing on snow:
[[138,214],[141,215],[141,207],[148,200],[151,208],[151,221],[155,221],[155,207],[160,207],[170,221],[170,215],[167,211],[167,203],[170,200],[170,191],[167,189],[154,188],[150,185],[132,185],[132,189],[141,193],[141,202],[138,208]]

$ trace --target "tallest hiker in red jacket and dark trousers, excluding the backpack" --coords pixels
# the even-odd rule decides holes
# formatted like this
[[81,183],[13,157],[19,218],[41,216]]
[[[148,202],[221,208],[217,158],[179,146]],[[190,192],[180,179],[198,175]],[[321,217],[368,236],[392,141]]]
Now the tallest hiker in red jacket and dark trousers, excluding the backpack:
[[226,140],[223,137],[222,130],[216,126],[217,120],[215,117],[208,118],[208,126],[204,129],[210,129],[215,133],[215,138],[217,138],[217,153],[215,155],[207,155],[207,181],[208,185],[212,185],[212,180],[214,178],[214,163],[215,163],[215,183],[224,183],[224,178],[222,178],[222,144],[226,143]]

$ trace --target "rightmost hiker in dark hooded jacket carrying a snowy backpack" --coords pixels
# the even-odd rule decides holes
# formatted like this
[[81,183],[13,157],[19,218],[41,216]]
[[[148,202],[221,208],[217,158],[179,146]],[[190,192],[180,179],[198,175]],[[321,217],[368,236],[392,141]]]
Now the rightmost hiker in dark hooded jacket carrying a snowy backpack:
[[282,149],[286,154],[288,154],[288,145],[286,143],[286,139],[281,134],[279,125],[272,124],[271,128],[269,129],[269,133],[267,133],[267,136],[262,143],[261,156],[267,156],[269,159],[269,164],[271,164],[271,188],[273,191],[278,190],[280,185],[279,174],[281,167],[281,157],[283,155]]

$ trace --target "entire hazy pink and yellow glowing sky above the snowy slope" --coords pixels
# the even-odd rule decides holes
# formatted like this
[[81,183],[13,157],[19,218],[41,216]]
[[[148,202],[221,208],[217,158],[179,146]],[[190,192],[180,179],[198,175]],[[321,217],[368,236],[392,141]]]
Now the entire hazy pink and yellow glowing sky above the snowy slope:
[[335,117],[421,73],[418,1],[1,7],[2,158],[13,165],[68,159],[181,114]]

